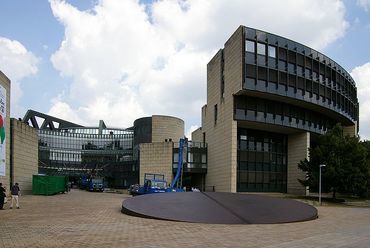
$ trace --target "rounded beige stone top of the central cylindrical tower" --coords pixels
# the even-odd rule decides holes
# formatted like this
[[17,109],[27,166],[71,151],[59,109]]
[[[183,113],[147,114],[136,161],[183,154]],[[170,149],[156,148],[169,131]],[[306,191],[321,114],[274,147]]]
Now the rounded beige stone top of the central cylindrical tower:
[[172,139],[179,142],[184,137],[184,121],[163,115],[152,116],[152,142],[164,142],[165,139]]

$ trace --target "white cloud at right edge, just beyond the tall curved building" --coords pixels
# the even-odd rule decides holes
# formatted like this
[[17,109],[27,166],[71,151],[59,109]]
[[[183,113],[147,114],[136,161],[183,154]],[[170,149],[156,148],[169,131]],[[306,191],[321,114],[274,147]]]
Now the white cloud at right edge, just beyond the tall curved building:
[[370,62],[354,68],[351,72],[357,86],[360,103],[360,136],[370,139]]

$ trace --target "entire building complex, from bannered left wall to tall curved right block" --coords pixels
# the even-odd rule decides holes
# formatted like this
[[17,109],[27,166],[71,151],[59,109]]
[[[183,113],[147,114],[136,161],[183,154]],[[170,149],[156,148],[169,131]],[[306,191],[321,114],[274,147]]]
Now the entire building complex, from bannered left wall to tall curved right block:
[[[113,187],[177,171],[184,121],[153,115],[129,128],[83,127],[36,111],[9,118],[10,80],[0,72],[0,181],[30,189],[32,174],[100,174]],[[304,194],[297,164],[334,124],[357,135],[355,82],[307,46],[240,26],[207,65],[202,127],[187,142],[182,185],[224,192]],[[8,139],[10,137],[10,139]],[[37,149],[35,148],[37,147]],[[36,164],[38,164],[36,169]]]

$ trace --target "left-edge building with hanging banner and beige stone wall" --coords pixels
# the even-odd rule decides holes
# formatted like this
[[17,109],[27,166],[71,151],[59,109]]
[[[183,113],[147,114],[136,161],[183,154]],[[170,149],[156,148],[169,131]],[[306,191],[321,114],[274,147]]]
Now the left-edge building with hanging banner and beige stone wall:
[[32,189],[38,171],[37,131],[10,118],[10,80],[0,71],[0,182],[7,190],[16,182],[23,193]]

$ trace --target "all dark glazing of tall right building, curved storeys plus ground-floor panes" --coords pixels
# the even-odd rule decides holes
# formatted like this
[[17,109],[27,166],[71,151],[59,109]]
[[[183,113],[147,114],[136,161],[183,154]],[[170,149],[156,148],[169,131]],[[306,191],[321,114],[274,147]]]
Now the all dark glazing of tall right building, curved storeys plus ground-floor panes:
[[265,123],[324,134],[337,122],[356,125],[355,82],[340,65],[307,46],[252,28],[243,31],[244,81],[233,96],[237,191],[286,192],[287,136],[245,128]]

